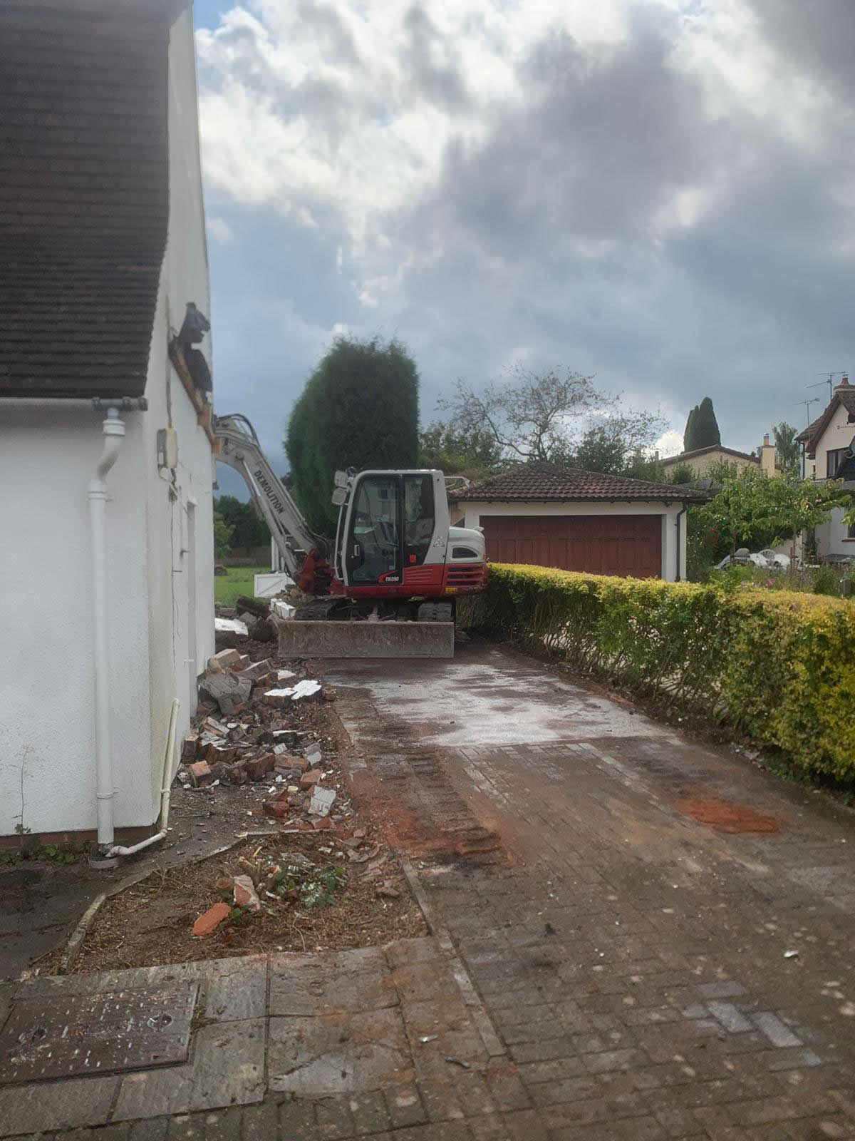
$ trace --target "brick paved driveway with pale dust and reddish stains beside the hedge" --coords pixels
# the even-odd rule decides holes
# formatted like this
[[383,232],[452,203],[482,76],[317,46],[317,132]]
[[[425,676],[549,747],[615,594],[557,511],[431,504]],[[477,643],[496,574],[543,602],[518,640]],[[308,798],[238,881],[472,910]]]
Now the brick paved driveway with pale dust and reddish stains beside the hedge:
[[855,1136],[852,814],[495,647],[326,672],[481,1060],[66,1136]]

